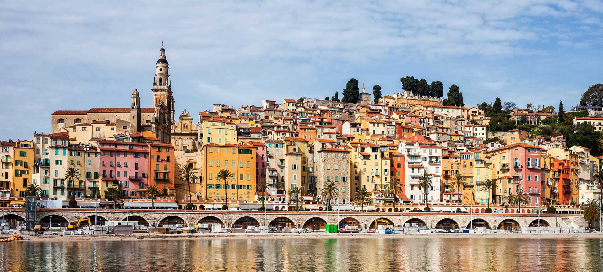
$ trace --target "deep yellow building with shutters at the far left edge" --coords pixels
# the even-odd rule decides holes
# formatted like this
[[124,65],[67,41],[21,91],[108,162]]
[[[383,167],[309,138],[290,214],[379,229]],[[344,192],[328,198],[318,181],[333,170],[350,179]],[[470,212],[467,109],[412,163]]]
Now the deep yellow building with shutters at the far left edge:
[[25,188],[31,182],[31,170],[34,165],[33,141],[17,141],[13,147],[13,158],[12,195],[25,197]]

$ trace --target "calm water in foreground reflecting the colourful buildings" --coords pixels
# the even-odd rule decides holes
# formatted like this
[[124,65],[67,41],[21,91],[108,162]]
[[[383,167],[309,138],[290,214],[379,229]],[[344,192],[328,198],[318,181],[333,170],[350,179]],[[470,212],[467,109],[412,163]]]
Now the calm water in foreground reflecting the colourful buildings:
[[345,238],[0,244],[0,271],[603,271],[603,240]]

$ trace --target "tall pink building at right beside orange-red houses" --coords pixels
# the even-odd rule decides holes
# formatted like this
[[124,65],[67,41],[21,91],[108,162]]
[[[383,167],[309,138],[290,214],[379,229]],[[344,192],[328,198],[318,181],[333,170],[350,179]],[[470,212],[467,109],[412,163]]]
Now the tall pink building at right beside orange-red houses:
[[[529,144],[513,144],[508,146],[508,154],[510,159],[511,171],[513,180],[519,182],[517,188],[522,188],[523,191],[529,194],[531,204],[538,203],[541,193],[540,187],[540,149],[538,146]],[[517,186],[521,187],[517,187]]]

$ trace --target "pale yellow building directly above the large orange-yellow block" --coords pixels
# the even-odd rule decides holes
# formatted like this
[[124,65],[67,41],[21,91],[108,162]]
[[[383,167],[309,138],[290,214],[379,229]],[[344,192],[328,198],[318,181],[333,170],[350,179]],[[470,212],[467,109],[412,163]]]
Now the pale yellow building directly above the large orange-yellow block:
[[236,144],[238,136],[235,123],[222,120],[202,120],[201,146],[205,144]]

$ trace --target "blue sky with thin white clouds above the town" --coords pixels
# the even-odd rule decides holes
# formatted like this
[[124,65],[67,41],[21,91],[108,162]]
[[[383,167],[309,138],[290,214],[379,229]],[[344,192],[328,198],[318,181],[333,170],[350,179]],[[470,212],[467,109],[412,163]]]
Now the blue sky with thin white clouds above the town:
[[0,140],[50,132],[56,110],[152,107],[165,46],[176,116],[212,104],[324,98],[356,78],[452,84],[473,106],[566,111],[602,83],[603,2],[4,1]]

